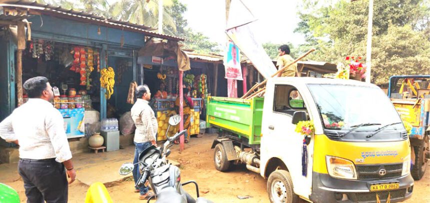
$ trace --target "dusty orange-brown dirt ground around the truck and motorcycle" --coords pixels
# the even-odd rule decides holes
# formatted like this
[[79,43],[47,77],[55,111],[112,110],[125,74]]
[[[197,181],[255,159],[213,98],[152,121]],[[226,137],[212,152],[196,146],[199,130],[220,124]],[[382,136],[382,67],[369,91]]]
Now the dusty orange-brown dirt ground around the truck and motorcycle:
[[[200,195],[214,202],[268,202],[266,193],[266,180],[258,174],[246,170],[244,167],[236,166],[230,172],[217,171],[212,162],[213,149],[210,149],[214,135],[205,134],[202,138],[191,138],[191,141],[185,145],[185,150],[178,152],[178,146],[171,148],[172,153],[169,158],[181,163],[181,180],[197,181],[200,188]],[[121,149],[132,151],[131,147]],[[109,154],[105,153],[105,154]],[[120,155],[124,153],[121,152]],[[75,155],[76,158],[85,155]],[[130,154],[130,156],[132,156]],[[110,158],[106,156],[107,158]],[[106,159],[107,159],[106,158]],[[118,158],[118,157],[116,157]],[[132,158],[132,157],[131,157]],[[131,159],[130,158],[130,159]],[[124,158],[124,160],[127,158]],[[97,164],[97,163],[93,163]],[[1,166],[1,165],[0,165]],[[80,166],[82,168],[83,166]],[[116,169],[106,167],[106,164],[98,167],[90,167],[92,172],[113,175]],[[81,172],[85,170],[81,169]],[[112,173],[114,172],[114,173]],[[430,170],[427,170],[425,176],[415,181],[412,198],[405,202],[430,202]],[[3,176],[1,174],[0,176]],[[77,175],[79,176],[79,170]],[[83,174],[81,174],[83,175]],[[23,183],[19,177],[9,178],[9,181],[3,181],[15,188],[20,195],[21,201],[25,201]],[[83,202],[88,186],[80,181],[73,182],[69,187],[69,202]],[[185,189],[195,196],[195,189],[191,185],[185,186]],[[116,182],[107,187],[110,196],[114,202],[137,202],[138,194],[133,192],[133,182],[131,179]],[[206,192],[206,193],[203,193]],[[249,199],[238,199],[237,195],[252,196]],[[141,201],[145,202],[145,201]],[[303,201],[304,202],[304,201]]]

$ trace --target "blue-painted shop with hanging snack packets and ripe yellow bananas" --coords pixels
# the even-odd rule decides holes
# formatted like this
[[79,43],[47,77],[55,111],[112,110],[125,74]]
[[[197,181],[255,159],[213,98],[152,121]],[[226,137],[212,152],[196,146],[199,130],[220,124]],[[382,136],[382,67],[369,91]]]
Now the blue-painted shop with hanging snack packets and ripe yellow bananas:
[[[129,111],[128,84],[139,81],[137,50],[144,46],[145,36],[179,39],[142,25],[34,2],[17,3],[0,9],[0,120],[28,98],[19,82],[45,76],[58,88],[52,105],[64,117],[68,138],[84,136],[88,120],[119,118]],[[24,36],[30,40],[19,50],[15,22],[22,19],[29,22]]]

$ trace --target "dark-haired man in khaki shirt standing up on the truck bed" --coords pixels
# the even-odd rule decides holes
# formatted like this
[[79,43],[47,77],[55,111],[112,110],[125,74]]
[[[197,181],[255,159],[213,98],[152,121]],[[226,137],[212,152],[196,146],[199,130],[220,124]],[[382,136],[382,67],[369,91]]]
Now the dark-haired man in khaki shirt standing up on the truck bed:
[[[294,59],[289,55],[290,50],[289,46],[286,44],[283,44],[279,46],[279,57],[276,61],[277,69],[281,69],[285,65],[291,63],[294,61]],[[279,72],[277,74],[278,77],[293,77],[296,76],[297,73],[297,63],[294,63],[287,68],[285,68],[282,72]]]

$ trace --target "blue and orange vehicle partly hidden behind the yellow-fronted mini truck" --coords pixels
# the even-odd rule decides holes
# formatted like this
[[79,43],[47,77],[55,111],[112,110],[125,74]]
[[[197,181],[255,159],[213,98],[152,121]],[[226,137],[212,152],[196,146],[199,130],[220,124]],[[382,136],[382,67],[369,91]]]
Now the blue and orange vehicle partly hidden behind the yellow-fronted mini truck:
[[430,134],[430,75],[394,75],[389,78],[388,97],[400,117],[411,125],[412,168],[416,180],[422,178],[428,166]]

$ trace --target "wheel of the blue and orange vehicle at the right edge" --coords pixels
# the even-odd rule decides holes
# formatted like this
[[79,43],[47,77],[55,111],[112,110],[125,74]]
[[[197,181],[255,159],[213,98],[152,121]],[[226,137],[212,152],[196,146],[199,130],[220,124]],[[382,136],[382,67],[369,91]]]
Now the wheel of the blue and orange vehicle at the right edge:
[[413,145],[413,150],[415,152],[415,164],[412,166],[410,174],[413,179],[419,180],[424,175],[425,169],[428,165],[428,159],[426,157],[426,154],[428,153],[428,138],[424,137],[419,144]]

